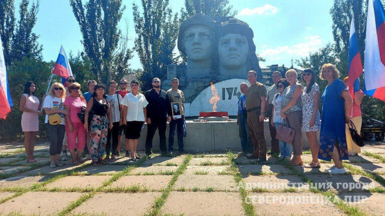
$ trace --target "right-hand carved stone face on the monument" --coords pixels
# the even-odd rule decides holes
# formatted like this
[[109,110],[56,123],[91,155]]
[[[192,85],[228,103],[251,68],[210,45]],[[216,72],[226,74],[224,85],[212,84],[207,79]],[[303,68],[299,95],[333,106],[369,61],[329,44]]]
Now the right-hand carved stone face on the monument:
[[224,66],[238,67],[245,64],[248,52],[249,42],[242,34],[228,33],[219,40],[219,60]]

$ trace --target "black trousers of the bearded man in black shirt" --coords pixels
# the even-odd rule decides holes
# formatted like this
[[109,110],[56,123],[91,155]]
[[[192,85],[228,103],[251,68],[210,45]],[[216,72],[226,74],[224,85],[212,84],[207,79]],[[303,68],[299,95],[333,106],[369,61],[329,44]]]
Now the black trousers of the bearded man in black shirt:
[[147,137],[146,137],[146,154],[151,154],[152,148],[152,139],[154,138],[154,134],[156,128],[159,133],[159,148],[160,151],[166,152],[166,125],[167,125],[167,117],[152,117],[151,123],[147,124]]

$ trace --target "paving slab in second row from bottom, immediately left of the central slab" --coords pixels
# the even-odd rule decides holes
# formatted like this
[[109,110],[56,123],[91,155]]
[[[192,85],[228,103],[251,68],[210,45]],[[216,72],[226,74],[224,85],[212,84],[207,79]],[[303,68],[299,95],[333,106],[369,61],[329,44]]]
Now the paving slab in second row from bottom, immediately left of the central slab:
[[142,188],[149,190],[160,190],[167,187],[172,175],[126,175],[112,182],[109,186],[114,187],[129,187],[132,185],[139,185]]

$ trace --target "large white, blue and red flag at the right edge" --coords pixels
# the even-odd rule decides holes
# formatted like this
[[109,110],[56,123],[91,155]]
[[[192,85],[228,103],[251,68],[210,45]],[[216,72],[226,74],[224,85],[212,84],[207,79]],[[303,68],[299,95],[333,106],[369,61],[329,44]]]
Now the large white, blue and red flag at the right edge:
[[363,82],[365,94],[385,101],[385,13],[380,0],[368,0]]

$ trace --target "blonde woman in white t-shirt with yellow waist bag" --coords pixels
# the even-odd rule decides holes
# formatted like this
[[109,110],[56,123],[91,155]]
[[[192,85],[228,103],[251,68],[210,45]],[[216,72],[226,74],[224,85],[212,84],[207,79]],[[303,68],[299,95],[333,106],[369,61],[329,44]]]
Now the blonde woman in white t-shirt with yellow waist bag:
[[[60,151],[63,145],[64,134],[66,132],[66,120],[65,115],[68,115],[68,111],[64,109],[64,100],[66,98],[66,89],[59,82],[54,82],[45,97],[43,102],[43,108],[46,112],[46,126],[50,136],[50,155],[51,155],[51,167],[63,166],[63,163],[59,162]],[[48,115],[59,113],[62,117],[62,121],[59,124],[52,125],[48,122]]]

